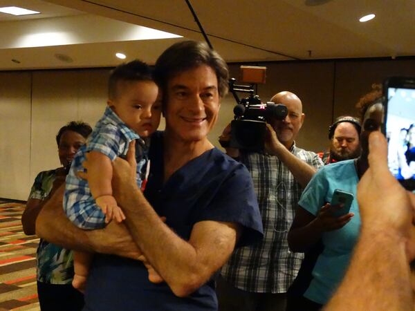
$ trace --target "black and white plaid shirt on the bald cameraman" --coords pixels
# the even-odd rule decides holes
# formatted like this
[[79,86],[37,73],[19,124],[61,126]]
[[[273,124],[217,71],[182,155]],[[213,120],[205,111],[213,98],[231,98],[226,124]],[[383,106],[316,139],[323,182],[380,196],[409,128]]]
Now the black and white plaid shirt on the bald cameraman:
[[[291,153],[318,169],[323,163],[316,153],[291,147]],[[241,162],[250,171],[264,225],[264,239],[236,249],[222,276],[247,292],[283,293],[293,283],[303,254],[288,249],[287,235],[303,188],[276,156],[241,152]]]

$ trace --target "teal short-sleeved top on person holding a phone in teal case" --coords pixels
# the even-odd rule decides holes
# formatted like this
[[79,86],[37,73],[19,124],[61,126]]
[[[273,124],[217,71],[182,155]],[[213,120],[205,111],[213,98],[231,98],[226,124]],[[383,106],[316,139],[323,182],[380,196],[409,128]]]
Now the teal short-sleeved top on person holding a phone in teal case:
[[313,279],[304,292],[307,299],[317,303],[325,304],[329,301],[343,279],[353,247],[356,245],[360,229],[356,198],[358,181],[354,160],[332,163],[315,173],[299,200],[300,207],[317,215],[326,202],[331,202],[335,189],[342,189],[354,195],[350,209],[354,216],[349,223],[338,230],[322,234],[324,249],[313,267]]

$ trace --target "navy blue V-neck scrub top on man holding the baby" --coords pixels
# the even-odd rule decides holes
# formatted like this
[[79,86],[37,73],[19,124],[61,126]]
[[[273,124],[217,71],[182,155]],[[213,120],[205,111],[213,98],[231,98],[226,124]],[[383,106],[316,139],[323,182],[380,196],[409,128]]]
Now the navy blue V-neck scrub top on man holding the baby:
[[[145,196],[166,224],[186,241],[203,220],[239,223],[239,245],[259,241],[261,216],[250,175],[243,166],[211,149],[190,160],[163,182],[163,139],[151,138],[151,171]],[[154,241],[154,243],[158,243]],[[213,281],[185,298],[175,296],[166,283],[148,281],[139,261],[96,255],[86,287],[85,310],[217,310]]]

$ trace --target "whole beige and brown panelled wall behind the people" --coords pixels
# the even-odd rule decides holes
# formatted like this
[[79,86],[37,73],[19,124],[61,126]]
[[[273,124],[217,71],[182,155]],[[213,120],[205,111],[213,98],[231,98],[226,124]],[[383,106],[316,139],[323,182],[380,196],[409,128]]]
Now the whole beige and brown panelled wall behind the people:
[[[268,67],[266,84],[258,86],[264,102],[284,90],[301,98],[306,120],[297,144],[313,151],[326,148],[334,117],[356,114],[354,104],[373,82],[390,75],[415,76],[414,59],[257,65]],[[239,64],[231,64],[230,72],[239,78]],[[26,200],[36,174],[59,166],[57,131],[71,120],[91,125],[98,121],[107,100],[108,74],[107,69],[0,73],[0,198]],[[216,145],[233,119],[234,105],[232,95],[222,101],[219,120],[209,135]]]

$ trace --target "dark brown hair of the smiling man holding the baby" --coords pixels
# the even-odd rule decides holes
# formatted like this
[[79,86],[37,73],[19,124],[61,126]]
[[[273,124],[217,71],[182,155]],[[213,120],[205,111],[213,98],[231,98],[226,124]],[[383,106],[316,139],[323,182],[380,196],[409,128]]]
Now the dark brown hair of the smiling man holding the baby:
[[154,70],[156,83],[164,92],[167,82],[178,73],[199,67],[210,66],[218,79],[220,97],[228,93],[228,65],[208,44],[200,41],[181,41],[173,44],[158,57]]

